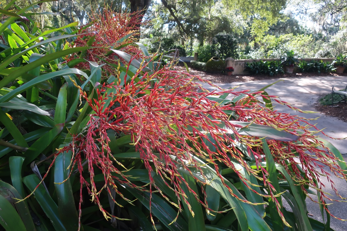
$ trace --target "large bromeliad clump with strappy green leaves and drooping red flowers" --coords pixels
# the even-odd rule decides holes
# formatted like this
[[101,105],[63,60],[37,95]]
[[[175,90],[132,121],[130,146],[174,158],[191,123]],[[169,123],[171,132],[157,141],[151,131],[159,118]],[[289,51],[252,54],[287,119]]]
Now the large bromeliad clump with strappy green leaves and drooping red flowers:
[[[142,44],[141,54],[120,51],[122,38],[89,47],[94,35],[76,35],[76,24],[24,31],[17,18],[0,26],[5,230],[330,230],[323,165],[344,179],[347,166],[314,125],[272,101],[299,109],[265,88],[209,92],[198,76],[156,68]],[[80,59],[98,47],[115,62]],[[81,61],[87,73],[74,68]],[[307,196],[325,224],[307,217]]]

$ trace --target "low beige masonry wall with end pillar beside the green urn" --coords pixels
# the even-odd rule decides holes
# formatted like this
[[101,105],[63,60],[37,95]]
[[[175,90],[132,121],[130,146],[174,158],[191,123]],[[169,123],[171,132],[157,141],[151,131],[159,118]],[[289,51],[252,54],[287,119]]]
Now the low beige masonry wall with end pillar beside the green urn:
[[[298,59],[299,61],[320,61],[322,60],[323,62],[332,62],[335,58],[308,58],[308,59]],[[246,63],[251,63],[251,62],[258,62],[258,61],[279,61],[281,59],[238,59],[235,60],[233,58],[227,58],[225,60],[225,65],[226,68],[229,66],[232,66],[234,68],[234,73],[233,74],[248,74],[248,72],[244,71],[245,70],[245,65]]]

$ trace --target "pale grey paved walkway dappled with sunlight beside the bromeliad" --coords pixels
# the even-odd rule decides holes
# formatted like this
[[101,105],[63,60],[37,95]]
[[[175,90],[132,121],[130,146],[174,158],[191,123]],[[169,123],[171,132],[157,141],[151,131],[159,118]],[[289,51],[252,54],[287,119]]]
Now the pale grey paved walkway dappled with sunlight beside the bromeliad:
[[[315,111],[313,104],[319,99],[319,96],[322,94],[328,94],[331,92],[331,88],[334,85],[347,85],[347,77],[341,76],[327,76],[327,77],[298,77],[298,78],[283,78],[283,81],[272,85],[267,88],[266,91],[269,95],[279,96],[282,100],[287,101],[288,103],[294,104],[295,107],[298,107],[302,110]],[[252,82],[233,82],[218,84],[222,88],[230,88],[239,86],[236,90],[259,90],[266,85],[269,85],[277,79],[272,80],[262,80],[262,81],[252,81]],[[203,86],[206,89],[213,90],[211,86],[206,83],[203,83]],[[275,104],[273,104],[275,105]],[[314,123],[318,123],[317,127],[319,129],[324,129],[324,132],[329,136],[335,138],[345,138],[347,137],[347,123],[343,122],[337,118],[323,115],[321,113],[313,114],[303,114],[291,110],[287,106],[277,104],[275,109],[283,113],[296,114],[306,118],[317,118]],[[345,140],[330,140],[328,139],[336,148],[342,153],[347,154],[347,139]],[[347,155],[344,155],[345,161],[347,162]],[[339,179],[337,177],[332,178],[336,184],[340,195],[347,197],[347,184],[345,180]],[[329,186],[330,183],[326,179],[322,179],[323,184]],[[332,190],[327,189],[329,193],[335,195]],[[312,214],[312,218],[316,220],[321,219],[321,213],[319,206],[311,201],[307,201],[308,212]],[[340,217],[341,219],[347,219],[347,204],[346,202],[335,202],[329,206],[329,210],[333,215]],[[331,218],[331,228],[336,231],[346,231],[347,230],[347,221],[339,221],[334,218]]]

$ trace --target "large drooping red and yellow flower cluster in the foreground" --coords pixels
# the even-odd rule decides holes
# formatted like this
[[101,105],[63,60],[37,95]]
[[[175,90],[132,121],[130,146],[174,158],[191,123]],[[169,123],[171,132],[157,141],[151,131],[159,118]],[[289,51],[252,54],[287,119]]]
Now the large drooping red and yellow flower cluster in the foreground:
[[[305,194],[307,194],[307,186],[309,186],[320,192],[321,202],[325,199],[334,201],[324,193],[320,181],[322,176],[329,179],[330,173],[324,170],[324,166],[328,166],[338,177],[346,179],[346,174],[338,165],[339,159],[325,147],[315,132],[310,131],[311,128],[316,130],[316,127],[302,117],[282,114],[271,108],[260,106],[257,97],[271,99],[293,109],[297,108],[279,100],[276,96],[263,95],[263,91],[251,94],[246,90],[218,89],[219,91],[209,92],[192,81],[193,78],[200,81],[204,81],[203,79],[177,71],[170,66],[165,66],[152,73],[143,71],[143,68],[140,68],[124,86],[119,86],[120,78],[111,84],[100,85],[96,89],[96,99],[88,99],[88,94],[81,90],[82,97],[94,113],[90,115],[86,130],[74,135],[72,142],[58,152],[58,154],[67,151],[73,152],[70,168],[71,172],[77,168],[80,174],[80,210],[82,187],[86,185],[88,193],[99,205],[104,216],[114,217],[100,205],[100,191],[107,190],[111,194],[111,190],[115,190],[128,202],[130,201],[118,190],[120,185],[150,193],[157,190],[161,193],[160,188],[154,184],[153,173],[158,174],[175,192],[178,201],[183,200],[189,205],[182,184],[191,192],[192,189],[181,176],[179,168],[183,168],[188,173],[192,168],[197,169],[201,173],[201,177],[197,178],[192,174],[194,179],[201,185],[208,184],[208,177],[204,175],[201,163],[194,159],[197,157],[211,163],[222,182],[224,180],[219,166],[234,169],[241,181],[249,182],[244,175],[239,174],[235,161],[242,165],[248,174],[261,179],[269,189],[267,195],[261,194],[261,196],[271,197],[285,222],[277,199],[281,192],[277,192],[273,187],[268,172],[262,165],[262,162],[266,161],[262,146],[264,139],[244,133],[240,134],[239,131],[244,125],[240,125],[236,121],[266,125],[291,134],[293,138],[290,139],[267,140],[273,160],[285,168]],[[112,91],[107,91],[107,89],[112,89]],[[211,98],[225,94],[239,97],[239,100],[236,100],[235,103],[223,104]],[[240,97],[242,95],[244,97]],[[109,99],[111,101],[106,104]],[[119,136],[131,136],[132,145],[135,146],[148,170],[149,189],[134,184],[127,175],[128,169],[113,156],[108,130],[113,130]],[[245,153],[239,149],[240,143],[246,146],[247,152],[254,157],[256,169],[250,168],[246,163]],[[87,160],[90,176],[88,180],[83,176],[85,160]],[[104,175],[105,182],[101,189],[94,182],[95,168],[100,169]],[[333,183],[331,186],[336,191]],[[225,187],[227,186],[225,185]],[[227,188],[232,196],[243,202],[251,203],[237,196],[229,187]],[[249,189],[257,193],[251,187]],[[204,193],[203,188],[202,191]],[[336,194],[339,195],[337,192]],[[165,195],[163,196],[165,197]],[[340,198],[342,199],[342,197]],[[198,197],[196,199],[208,209],[206,201],[203,202]],[[117,202],[115,201],[115,203]],[[181,211],[181,204],[179,203],[177,206]],[[324,207],[327,209],[325,204]],[[285,222],[285,224],[288,223]]]

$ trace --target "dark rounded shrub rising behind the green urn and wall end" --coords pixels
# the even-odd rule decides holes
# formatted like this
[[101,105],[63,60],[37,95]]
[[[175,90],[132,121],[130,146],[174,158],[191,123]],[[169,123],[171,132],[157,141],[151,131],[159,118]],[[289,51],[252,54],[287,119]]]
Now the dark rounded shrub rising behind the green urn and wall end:
[[222,60],[232,57],[237,59],[237,40],[231,34],[221,32],[212,39],[211,54]]

